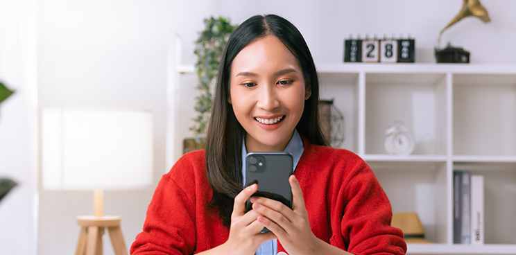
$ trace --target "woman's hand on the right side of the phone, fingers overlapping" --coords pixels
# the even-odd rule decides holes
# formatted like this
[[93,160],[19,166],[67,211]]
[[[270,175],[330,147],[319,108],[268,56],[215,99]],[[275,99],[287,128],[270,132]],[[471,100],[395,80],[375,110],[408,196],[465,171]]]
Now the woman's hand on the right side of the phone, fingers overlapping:
[[324,242],[310,229],[298,180],[291,175],[289,182],[292,188],[293,210],[282,202],[265,197],[251,197],[253,211],[261,215],[257,221],[277,236],[289,254],[318,254],[321,242]]

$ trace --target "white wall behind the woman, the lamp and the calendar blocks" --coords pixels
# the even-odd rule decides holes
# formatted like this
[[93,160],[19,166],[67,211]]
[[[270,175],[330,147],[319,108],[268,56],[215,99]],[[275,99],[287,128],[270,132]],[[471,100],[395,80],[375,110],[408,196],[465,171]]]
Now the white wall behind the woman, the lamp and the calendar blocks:
[[[196,60],[193,42],[197,32],[203,29],[205,17],[223,15],[237,24],[251,15],[264,13],[282,15],[298,26],[316,62],[341,62],[343,39],[358,33],[362,36],[365,33],[379,36],[410,33],[416,39],[416,61],[435,62],[433,46],[438,33],[456,15],[461,3],[461,0],[39,0],[39,107],[152,109],[155,114],[157,184],[169,168],[164,163],[164,116],[167,38],[172,31],[182,37],[184,64],[193,64]],[[516,41],[516,17],[513,15],[516,1],[482,3],[490,12],[492,22],[482,24],[479,19],[467,18],[447,30],[443,42],[463,46],[472,53],[474,63],[515,64],[516,51],[511,47]],[[191,92],[181,95],[189,103],[194,96]],[[0,110],[1,129],[6,125],[8,117],[4,112],[8,105],[3,105]],[[22,111],[23,108],[18,106],[17,112]],[[191,121],[185,119],[183,125],[189,126]],[[23,130],[14,132],[18,137],[26,133]],[[13,153],[23,157],[24,148],[26,146],[20,145]],[[105,193],[105,214],[122,217],[121,227],[127,246],[141,231],[153,189]],[[73,253],[79,230],[75,219],[78,215],[93,213],[92,193],[43,191],[41,188],[38,191],[37,253]],[[0,204],[0,210],[4,205],[7,203]],[[113,254],[107,236],[105,254]]]

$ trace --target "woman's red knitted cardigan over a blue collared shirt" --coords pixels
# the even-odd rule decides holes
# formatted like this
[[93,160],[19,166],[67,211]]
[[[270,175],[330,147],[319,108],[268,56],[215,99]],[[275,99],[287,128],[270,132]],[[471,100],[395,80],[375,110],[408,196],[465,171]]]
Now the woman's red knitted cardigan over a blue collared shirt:
[[[311,230],[352,254],[405,254],[390,227],[390,202],[371,168],[353,152],[314,146],[303,138],[295,169]],[[229,231],[207,211],[212,197],[205,151],[189,152],[163,175],[130,254],[195,254],[225,243]],[[278,242],[278,252],[285,252]]]

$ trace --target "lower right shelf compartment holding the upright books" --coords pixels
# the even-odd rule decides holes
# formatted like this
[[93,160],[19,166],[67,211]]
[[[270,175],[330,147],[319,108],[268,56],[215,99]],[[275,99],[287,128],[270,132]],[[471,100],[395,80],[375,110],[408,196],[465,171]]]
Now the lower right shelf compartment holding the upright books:
[[510,159],[454,161],[453,164],[454,170],[470,170],[472,175],[483,175],[486,244],[516,245],[516,161]]

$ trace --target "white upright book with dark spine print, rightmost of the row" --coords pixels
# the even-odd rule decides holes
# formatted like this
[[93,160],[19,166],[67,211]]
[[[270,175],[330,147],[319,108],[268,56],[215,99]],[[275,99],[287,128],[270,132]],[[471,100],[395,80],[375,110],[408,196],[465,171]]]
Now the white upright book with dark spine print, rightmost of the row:
[[484,243],[483,175],[471,176],[471,244]]

